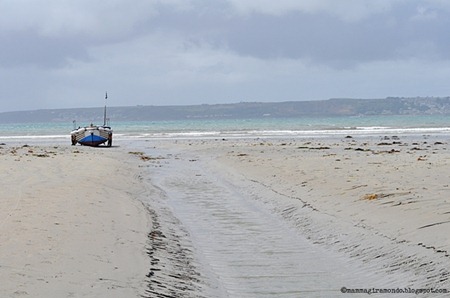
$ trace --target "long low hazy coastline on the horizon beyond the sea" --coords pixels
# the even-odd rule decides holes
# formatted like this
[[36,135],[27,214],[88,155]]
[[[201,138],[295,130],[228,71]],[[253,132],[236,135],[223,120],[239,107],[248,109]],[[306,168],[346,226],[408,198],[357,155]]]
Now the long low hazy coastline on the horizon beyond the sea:
[[[338,117],[367,115],[450,115],[450,97],[333,98],[316,101],[240,102],[178,106],[109,107],[114,121]],[[0,123],[102,121],[103,108],[42,109],[0,113]]]

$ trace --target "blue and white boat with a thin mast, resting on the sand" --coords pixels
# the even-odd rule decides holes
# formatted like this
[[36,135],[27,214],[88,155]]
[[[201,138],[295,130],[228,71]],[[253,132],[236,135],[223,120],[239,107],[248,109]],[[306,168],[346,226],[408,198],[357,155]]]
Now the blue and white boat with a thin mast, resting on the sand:
[[[108,93],[105,95],[105,100],[108,98]],[[74,120],[74,129],[70,133],[72,145],[80,144],[83,146],[97,147],[105,144],[107,147],[112,146],[112,134],[113,131],[106,118],[106,105],[103,115],[103,125],[90,124],[89,126],[76,128],[76,121]]]

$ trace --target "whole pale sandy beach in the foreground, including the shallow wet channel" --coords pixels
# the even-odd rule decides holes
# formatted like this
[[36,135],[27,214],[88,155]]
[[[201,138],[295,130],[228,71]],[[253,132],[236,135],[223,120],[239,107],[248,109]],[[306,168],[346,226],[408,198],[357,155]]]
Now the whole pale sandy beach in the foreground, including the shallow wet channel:
[[445,137],[135,145],[1,146],[2,297],[450,290]]

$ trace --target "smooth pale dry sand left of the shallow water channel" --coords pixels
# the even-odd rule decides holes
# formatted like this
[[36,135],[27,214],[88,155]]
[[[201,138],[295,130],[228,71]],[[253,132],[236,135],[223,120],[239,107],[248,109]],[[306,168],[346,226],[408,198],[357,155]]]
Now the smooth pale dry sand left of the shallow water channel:
[[139,297],[151,222],[119,149],[1,146],[0,296]]

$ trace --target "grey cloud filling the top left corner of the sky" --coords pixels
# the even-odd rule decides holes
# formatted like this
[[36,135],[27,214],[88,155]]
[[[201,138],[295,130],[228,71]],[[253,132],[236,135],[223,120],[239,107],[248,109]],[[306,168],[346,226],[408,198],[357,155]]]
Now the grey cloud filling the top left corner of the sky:
[[158,1],[0,2],[0,66],[61,68],[89,49],[131,40]]

